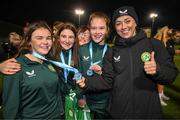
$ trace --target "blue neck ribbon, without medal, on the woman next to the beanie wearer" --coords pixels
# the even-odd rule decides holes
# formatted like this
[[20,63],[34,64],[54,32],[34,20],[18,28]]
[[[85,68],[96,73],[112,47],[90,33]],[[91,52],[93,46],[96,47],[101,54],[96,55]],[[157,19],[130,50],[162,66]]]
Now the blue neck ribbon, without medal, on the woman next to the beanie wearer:
[[[89,45],[89,53],[90,53],[90,58],[91,58],[91,66],[92,65],[96,65],[98,63],[100,63],[102,60],[99,60],[97,62],[94,62],[92,61],[92,56],[93,56],[93,50],[92,50],[92,42],[90,43]],[[105,53],[106,53],[106,50],[107,50],[107,44],[104,45],[104,48],[103,48],[103,54],[102,54],[102,58],[104,57]]]

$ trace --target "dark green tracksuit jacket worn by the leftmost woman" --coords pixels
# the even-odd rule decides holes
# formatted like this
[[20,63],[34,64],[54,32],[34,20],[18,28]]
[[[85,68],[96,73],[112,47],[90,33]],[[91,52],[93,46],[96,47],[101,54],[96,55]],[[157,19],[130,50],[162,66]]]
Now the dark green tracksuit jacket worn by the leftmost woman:
[[40,64],[20,56],[21,71],[5,76],[5,119],[59,119],[63,112],[61,80],[51,64]]

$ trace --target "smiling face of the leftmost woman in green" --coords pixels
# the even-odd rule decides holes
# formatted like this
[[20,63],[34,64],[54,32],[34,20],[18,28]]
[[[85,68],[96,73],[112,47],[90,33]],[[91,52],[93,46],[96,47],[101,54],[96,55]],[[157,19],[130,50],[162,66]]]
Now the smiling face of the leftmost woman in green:
[[52,37],[49,30],[39,28],[32,33],[30,41],[32,51],[44,56],[52,47]]

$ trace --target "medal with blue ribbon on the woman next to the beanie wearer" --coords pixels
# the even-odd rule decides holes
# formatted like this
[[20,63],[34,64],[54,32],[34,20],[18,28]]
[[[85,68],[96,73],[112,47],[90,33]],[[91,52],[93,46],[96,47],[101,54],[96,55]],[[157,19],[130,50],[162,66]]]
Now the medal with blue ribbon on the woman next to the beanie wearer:
[[[92,57],[93,57],[93,50],[92,50],[93,48],[92,48],[92,42],[89,44],[89,54],[90,54],[90,60],[91,60],[91,66],[92,65],[97,65],[97,64],[99,64],[101,61],[102,61],[102,59],[103,59],[103,57],[104,57],[104,55],[105,55],[105,53],[106,53],[106,51],[107,51],[107,44],[105,44],[104,45],[104,48],[103,48],[103,54],[102,54],[102,59],[101,60],[99,60],[99,61],[97,61],[97,62],[94,62],[93,63],[93,60],[92,60]],[[90,66],[90,67],[91,67]],[[87,72],[86,72],[86,74],[88,75],[88,76],[92,76],[93,74],[94,74],[94,72],[93,72],[93,70],[92,69],[90,69],[90,67],[89,67],[89,69],[87,70]]]

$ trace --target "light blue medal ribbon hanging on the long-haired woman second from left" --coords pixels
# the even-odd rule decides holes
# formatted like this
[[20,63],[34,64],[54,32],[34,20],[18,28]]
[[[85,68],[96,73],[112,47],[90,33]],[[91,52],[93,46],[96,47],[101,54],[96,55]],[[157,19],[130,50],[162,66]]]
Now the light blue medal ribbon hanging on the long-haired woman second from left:
[[[72,50],[70,49],[68,52],[69,52],[68,65],[70,66],[70,65],[71,65]],[[64,54],[63,54],[63,52],[61,52],[60,57],[61,57],[62,63],[63,63],[63,64],[66,64],[66,63],[65,63],[65,59],[64,59]],[[69,73],[69,71],[68,71],[67,69],[64,69],[64,77],[65,77],[65,82],[66,82],[66,83],[67,83],[68,73]]]

